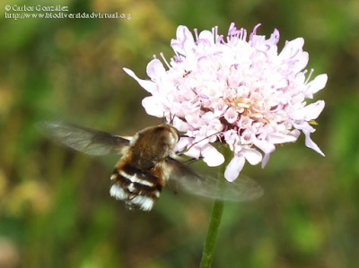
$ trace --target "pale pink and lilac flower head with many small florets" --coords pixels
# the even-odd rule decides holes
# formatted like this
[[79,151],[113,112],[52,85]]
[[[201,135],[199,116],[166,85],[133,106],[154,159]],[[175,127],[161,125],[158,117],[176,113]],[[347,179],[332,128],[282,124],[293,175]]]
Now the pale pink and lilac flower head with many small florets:
[[[302,38],[285,42],[278,53],[279,31],[269,39],[257,35],[258,24],[247,41],[247,31],[234,23],[224,39],[217,27],[203,30],[195,37],[185,26],[177,29],[171,40],[175,55],[167,65],[154,58],[147,65],[151,81],[130,76],[151,93],[143,99],[149,115],[174,117],[172,124],[185,137],[179,151],[202,156],[208,166],[218,166],[223,155],[211,143],[227,143],[233,158],[224,177],[232,181],[241,172],[245,161],[251,165],[267,164],[278,143],[293,143],[300,132],[305,145],[324,156],[311,140],[315,129],[311,121],[319,117],[324,100],[307,105],[305,99],[325,87],[327,74],[311,82],[311,72],[303,71],[309,55],[302,50]],[[263,153],[263,155],[262,155]]]

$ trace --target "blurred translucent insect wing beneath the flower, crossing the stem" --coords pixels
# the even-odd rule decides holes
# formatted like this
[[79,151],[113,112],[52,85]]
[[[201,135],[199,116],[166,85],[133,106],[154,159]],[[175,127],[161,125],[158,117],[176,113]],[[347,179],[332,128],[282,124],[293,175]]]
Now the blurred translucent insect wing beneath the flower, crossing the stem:
[[232,183],[223,178],[223,190],[220,190],[215,177],[201,177],[177,160],[168,160],[166,164],[171,174],[170,184],[174,183],[192,195],[241,202],[256,199],[264,193],[263,188],[249,177],[240,176]]

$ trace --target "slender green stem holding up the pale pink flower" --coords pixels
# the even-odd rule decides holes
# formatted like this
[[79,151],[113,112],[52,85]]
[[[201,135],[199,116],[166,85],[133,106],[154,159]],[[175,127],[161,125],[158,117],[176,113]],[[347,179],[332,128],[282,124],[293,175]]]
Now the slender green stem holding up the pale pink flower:
[[[225,152],[226,151],[223,150],[223,155],[225,159],[228,160]],[[217,187],[221,191],[223,191],[223,187],[224,187],[223,174],[226,164],[227,161],[221,167],[220,173],[218,175]],[[215,254],[215,242],[217,240],[218,229],[222,220],[223,206],[224,206],[223,200],[219,200],[219,199],[215,200],[212,209],[211,220],[209,222],[209,227],[207,231],[205,247],[202,252],[201,264],[199,265],[200,268],[210,268],[212,265],[212,260]]]

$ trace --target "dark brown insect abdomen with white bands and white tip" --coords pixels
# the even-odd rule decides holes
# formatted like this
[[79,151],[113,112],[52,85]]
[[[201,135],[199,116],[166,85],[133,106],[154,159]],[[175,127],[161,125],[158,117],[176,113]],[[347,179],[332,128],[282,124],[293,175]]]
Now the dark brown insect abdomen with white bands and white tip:
[[154,201],[161,195],[163,186],[161,177],[136,169],[129,163],[117,167],[111,180],[113,185],[109,194],[125,201],[128,209],[138,208],[142,211],[151,211]]

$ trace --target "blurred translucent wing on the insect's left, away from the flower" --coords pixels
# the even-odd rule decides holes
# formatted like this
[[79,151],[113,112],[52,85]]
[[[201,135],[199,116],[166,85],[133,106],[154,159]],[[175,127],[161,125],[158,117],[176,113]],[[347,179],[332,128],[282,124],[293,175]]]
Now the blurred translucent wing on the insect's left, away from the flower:
[[57,143],[92,155],[120,153],[129,144],[122,137],[63,121],[40,122],[36,127]]

